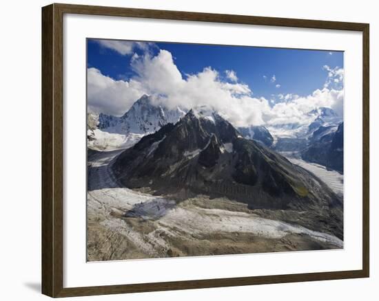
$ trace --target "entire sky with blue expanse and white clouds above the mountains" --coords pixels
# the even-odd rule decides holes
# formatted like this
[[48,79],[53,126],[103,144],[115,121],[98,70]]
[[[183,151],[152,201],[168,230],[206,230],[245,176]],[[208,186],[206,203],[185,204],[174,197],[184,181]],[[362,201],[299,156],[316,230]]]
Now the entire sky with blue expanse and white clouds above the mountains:
[[168,109],[206,104],[236,125],[343,112],[343,53],[88,39],[88,108],[123,115],[143,94]]

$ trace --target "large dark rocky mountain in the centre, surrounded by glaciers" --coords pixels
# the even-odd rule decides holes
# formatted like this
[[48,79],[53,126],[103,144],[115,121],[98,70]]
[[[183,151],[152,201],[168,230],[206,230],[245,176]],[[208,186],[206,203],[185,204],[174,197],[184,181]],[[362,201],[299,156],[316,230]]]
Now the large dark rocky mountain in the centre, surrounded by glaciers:
[[252,209],[306,211],[314,216],[314,228],[343,236],[340,197],[311,172],[241,137],[207,108],[192,109],[176,124],[146,135],[117,157],[112,170],[128,188],[178,199],[205,194]]

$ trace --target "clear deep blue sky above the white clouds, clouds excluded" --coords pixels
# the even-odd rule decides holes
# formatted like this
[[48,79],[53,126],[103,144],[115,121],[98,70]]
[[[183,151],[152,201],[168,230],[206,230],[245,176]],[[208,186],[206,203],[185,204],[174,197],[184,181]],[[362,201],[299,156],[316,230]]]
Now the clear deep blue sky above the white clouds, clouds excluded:
[[[241,47],[187,43],[155,43],[152,53],[166,49],[174,63],[185,74],[196,74],[212,67],[220,74],[227,69],[236,71],[241,82],[249,85],[254,96],[270,98],[274,93],[296,93],[307,96],[321,89],[327,78],[322,67],[343,67],[343,53],[329,50],[281,49],[268,47]],[[139,53],[140,51],[136,51]],[[88,41],[88,66],[116,80],[128,80],[134,75],[131,56]],[[305,75],[306,74],[306,75]],[[272,82],[272,76],[276,81]],[[266,76],[266,79],[264,78]],[[276,85],[280,87],[276,88]]]

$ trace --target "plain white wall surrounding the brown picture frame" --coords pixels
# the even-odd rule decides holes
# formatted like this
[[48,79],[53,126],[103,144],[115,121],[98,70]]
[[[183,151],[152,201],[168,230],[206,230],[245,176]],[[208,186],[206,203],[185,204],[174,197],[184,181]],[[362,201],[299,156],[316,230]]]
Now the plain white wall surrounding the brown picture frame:
[[[188,10],[256,16],[282,16],[370,23],[371,52],[371,278],[221,289],[196,289],[96,296],[73,300],[377,300],[379,274],[375,172],[378,159],[379,53],[378,8],[375,1],[61,1],[162,10]],[[41,6],[50,1],[3,1],[0,47],[0,298],[47,300],[40,290],[41,278]],[[5,168],[4,168],[5,166]]]

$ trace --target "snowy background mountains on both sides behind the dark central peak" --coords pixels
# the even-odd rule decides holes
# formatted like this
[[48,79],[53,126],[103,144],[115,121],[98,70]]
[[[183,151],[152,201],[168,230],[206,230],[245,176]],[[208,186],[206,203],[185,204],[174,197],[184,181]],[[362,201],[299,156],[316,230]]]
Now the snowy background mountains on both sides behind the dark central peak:
[[[88,146],[95,150],[128,148],[165,124],[175,124],[186,113],[187,110],[179,107],[169,110],[156,105],[152,97],[146,95],[136,100],[121,117],[89,113]],[[246,139],[277,152],[296,152],[306,161],[343,173],[342,119],[333,109],[320,107],[309,111],[307,120],[309,122],[303,124],[252,125],[236,130]]]

